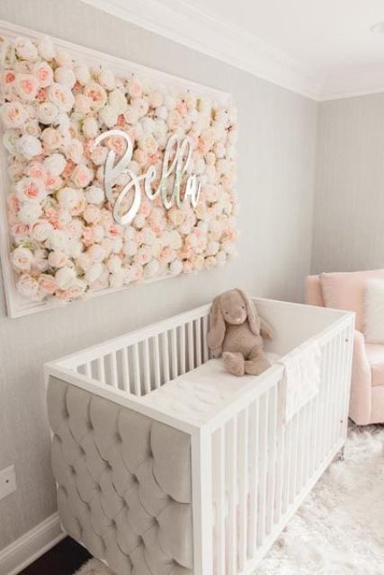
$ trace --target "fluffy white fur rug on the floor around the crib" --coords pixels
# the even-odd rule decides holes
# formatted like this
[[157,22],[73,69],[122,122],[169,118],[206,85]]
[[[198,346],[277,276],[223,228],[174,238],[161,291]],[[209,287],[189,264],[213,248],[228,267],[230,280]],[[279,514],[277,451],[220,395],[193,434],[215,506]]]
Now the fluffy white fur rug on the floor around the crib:
[[[255,575],[384,574],[384,427],[353,428]],[[92,560],[76,575],[113,575]]]

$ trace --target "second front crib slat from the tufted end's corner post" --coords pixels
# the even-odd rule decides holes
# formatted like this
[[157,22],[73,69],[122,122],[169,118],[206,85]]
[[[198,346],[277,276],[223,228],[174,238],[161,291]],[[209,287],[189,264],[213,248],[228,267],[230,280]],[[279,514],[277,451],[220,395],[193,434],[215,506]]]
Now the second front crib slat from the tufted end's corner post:
[[237,573],[237,418],[227,424],[228,575]]

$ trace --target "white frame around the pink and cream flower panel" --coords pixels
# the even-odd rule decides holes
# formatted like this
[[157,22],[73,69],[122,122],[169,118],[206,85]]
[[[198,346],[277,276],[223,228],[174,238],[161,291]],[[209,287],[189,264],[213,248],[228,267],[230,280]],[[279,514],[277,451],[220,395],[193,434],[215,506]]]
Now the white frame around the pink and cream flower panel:
[[[10,22],[0,21],[0,35],[7,38],[13,38],[16,36],[22,36],[29,40],[37,40],[44,38],[47,34],[42,34],[38,31],[33,31],[31,29],[23,28],[17,26]],[[150,77],[151,80],[158,82],[159,84],[167,84],[173,87],[180,86],[185,91],[192,91],[197,95],[207,96],[214,99],[216,102],[226,104],[228,106],[233,105],[233,98],[230,93],[222,92],[220,90],[210,88],[202,84],[197,84],[190,80],[183,79],[179,76],[170,75],[159,70],[141,66],[136,63],[130,62],[129,60],[122,59],[120,57],[115,57],[103,52],[99,52],[94,49],[88,49],[83,46],[68,42],[66,40],[61,40],[55,38],[49,34],[49,38],[55,43],[55,46],[61,49],[66,49],[71,53],[71,56],[84,60],[90,66],[100,66],[102,63],[104,66],[108,66],[115,74],[138,74],[144,77]],[[19,294],[16,288],[16,276],[13,271],[10,252],[11,252],[11,238],[9,234],[9,226],[7,221],[7,189],[9,187],[9,178],[7,176],[7,157],[4,145],[0,142],[0,260],[1,269],[3,272],[3,283],[4,283],[4,295],[7,313],[9,316],[15,318],[26,314],[33,314],[45,309],[51,309],[53,307],[58,307],[63,305],[59,301],[40,301],[35,302],[27,297]],[[182,274],[179,274],[182,275]],[[161,279],[174,278],[174,275],[163,275],[157,276],[154,279],[147,279],[145,283],[150,281],[158,281]],[[136,286],[137,284],[133,284]],[[128,289],[132,286],[123,286],[121,288],[103,288],[100,290],[94,290],[89,292],[87,297],[102,296],[105,294],[112,294],[116,291],[121,291],[122,289]]]

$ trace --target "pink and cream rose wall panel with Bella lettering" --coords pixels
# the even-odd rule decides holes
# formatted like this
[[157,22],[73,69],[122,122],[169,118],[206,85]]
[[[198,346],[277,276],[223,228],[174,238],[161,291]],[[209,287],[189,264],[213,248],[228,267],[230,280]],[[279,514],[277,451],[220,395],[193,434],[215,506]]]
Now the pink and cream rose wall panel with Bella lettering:
[[74,54],[46,37],[2,40],[11,314],[209,270],[234,255],[228,94],[113,66],[117,58],[80,58],[80,47]]

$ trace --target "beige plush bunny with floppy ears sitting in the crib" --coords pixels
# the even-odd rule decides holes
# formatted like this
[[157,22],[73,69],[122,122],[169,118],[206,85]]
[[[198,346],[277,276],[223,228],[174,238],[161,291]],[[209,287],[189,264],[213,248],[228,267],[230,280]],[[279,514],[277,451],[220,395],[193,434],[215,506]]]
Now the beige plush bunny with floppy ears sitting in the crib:
[[235,376],[258,376],[271,367],[263,352],[263,337],[272,340],[272,327],[257,314],[255,304],[241,289],[215,297],[210,310],[208,345],[213,357],[222,355]]

